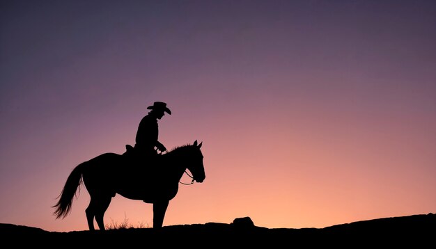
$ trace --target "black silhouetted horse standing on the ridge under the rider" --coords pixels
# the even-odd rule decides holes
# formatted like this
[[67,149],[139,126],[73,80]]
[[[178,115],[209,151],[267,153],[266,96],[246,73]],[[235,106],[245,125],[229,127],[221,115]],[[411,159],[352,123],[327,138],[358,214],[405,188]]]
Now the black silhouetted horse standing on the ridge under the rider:
[[94,218],[99,229],[105,230],[104,212],[117,193],[131,200],[152,203],[153,228],[162,227],[169,201],[176,196],[178,183],[186,170],[192,173],[192,176],[188,174],[192,183],[205,179],[202,144],[195,140],[192,145],[176,147],[146,165],[115,153],[100,154],[80,163],[68,176],[59,201],[53,206],[54,215],[56,219],[68,216],[72,199],[83,182],[91,196],[85,211],[89,230],[95,230]]

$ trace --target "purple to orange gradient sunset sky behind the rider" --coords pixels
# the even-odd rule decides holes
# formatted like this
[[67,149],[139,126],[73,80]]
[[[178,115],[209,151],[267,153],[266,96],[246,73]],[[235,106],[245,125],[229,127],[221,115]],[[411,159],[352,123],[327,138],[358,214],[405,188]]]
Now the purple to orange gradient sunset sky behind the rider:
[[[84,186],[53,215],[68,175],[134,145],[156,101],[206,175],[164,226],[435,213],[435,24],[421,0],[1,1],[0,223],[88,230]],[[152,227],[153,206],[116,195],[104,222]]]

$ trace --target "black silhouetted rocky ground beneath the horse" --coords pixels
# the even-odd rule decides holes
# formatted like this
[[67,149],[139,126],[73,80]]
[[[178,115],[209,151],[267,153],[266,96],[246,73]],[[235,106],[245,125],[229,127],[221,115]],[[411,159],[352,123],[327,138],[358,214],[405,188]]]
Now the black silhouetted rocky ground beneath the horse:
[[171,225],[160,229],[128,228],[94,232],[48,232],[36,227],[0,224],[0,237],[3,244],[10,245],[9,248],[434,248],[436,214],[379,218],[325,228],[299,229],[257,227],[249,217],[236,218],[230,224],[205,223]]

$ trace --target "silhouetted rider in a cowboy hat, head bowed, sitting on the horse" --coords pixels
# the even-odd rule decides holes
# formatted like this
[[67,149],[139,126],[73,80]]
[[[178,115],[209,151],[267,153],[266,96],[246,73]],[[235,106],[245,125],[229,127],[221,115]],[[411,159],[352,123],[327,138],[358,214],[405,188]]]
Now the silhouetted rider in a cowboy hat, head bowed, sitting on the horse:
[[139,122],[136,144],[134,145],[135,154],[143,155],[141,157],[156,156],[158,151],[161,154],[166,152],[166,147],[157,140],[159,136],[157,120],[160,120],[165,113],[171,115],[170,109],[166,107],[164,102],[155,102],[153,106],[148,106],[147,109],[151,111]]

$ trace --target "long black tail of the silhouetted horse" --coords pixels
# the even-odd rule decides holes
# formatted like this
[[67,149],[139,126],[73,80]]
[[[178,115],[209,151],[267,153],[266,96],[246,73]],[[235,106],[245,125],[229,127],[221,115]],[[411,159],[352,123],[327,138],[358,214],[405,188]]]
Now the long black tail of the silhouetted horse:
[[59,201],[53,206],[56,210],[53,212],[54,216],[57,218],[65,218],[70,211],[72,205],[72,198],[74,198],[77,188],[79,188],[82,178],[81,174],[84,168],[84,163],[76,166],[74,170],[72,170],[70,176],[68,176],[67,182],[65,182],[65,186],[63,186],[61,194],[58,196]]

